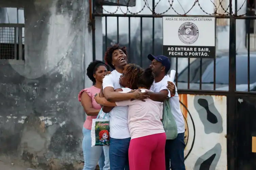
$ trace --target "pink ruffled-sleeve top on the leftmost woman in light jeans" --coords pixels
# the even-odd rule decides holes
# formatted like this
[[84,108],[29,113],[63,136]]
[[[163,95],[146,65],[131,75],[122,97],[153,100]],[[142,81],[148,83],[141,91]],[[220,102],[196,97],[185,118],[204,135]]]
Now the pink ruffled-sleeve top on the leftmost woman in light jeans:
[[[99,93],[100,89],[92,86],[92,87],[81,90],[78,94],[78,100],[79,101],[81,101],[81,96],[82,96],[83,92],[86,92],[89,95],[89,97],[91,98],[91,103],[92,103],[93,108],[95,108],[95,109],[100,109],[101,108],[101,106],[94,99],[94,95],[96,93]],[[92,119],[95,119],[95,118],[97,118],[97,116],[86,116],[86,120],[85,120],[85,123],[83,125],[84,128],[91,130],[92,129]]]

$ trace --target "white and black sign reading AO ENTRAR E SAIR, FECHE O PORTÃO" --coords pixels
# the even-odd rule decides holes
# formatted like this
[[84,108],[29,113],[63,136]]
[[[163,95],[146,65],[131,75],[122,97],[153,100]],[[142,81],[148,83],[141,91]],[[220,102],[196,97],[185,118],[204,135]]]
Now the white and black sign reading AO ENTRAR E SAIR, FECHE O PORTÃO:
[[214,17],[163,17],[163,54],[169,57],[215,57]]

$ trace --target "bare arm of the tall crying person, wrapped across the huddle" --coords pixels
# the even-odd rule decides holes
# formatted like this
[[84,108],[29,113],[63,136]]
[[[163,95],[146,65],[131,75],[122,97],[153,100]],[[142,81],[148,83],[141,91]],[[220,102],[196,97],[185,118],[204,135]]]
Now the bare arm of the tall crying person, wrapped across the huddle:
[[115,101],[123,101],[123,100],[130,100],[130,99],[139,99],[139,100],[144,100],[147,97],[148,92],[140,92],[139,90],[136,90],[135,92],[132,93],[118,93],[114,91],[114,88],[112,87],[106,87],[103,89],[103,93],[105,98],[108,101],[115,102]]

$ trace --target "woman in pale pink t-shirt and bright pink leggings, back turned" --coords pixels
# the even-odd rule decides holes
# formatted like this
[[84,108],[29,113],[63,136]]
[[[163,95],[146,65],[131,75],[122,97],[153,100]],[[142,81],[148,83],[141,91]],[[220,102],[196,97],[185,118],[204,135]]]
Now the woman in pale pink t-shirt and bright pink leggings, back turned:
[[[124,75],[120,78],[122,86],[125,86],[128,79],[126,74]],[[139,76],[137,86],[141,90],[149,91],[153,81],[152,70],[148,68]],[[95,98],[99,103],[106,106],[129,105],[130,170],[165,170],[164,148],[166,135],[161,122],[163,103],[151,99],[145,99],[145,102],[141,100],[125,100],[113,103],[104,98]]]

